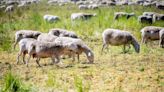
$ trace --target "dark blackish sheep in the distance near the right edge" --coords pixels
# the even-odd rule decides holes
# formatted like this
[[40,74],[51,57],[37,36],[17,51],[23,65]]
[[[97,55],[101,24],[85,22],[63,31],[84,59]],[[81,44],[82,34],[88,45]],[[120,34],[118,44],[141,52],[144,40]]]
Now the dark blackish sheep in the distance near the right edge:
[[138,21],[140,22],[140,23],[150,23],[150,24],[152,24],[155,20],[154,20],[154,18],[153,17],[151,17],[151,16],[144,16],[144,15],[141,15],[141,16],[138,16]]

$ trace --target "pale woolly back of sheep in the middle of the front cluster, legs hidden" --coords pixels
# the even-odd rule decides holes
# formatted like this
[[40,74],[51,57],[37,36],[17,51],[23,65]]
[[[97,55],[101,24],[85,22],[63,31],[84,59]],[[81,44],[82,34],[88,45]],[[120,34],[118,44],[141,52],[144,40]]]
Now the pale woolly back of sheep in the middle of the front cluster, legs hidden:
[[40,42],[53,42],[55,41],[56,38],[57,36],[55,35],[42,33],[41,35],[38,36],[37,40]]

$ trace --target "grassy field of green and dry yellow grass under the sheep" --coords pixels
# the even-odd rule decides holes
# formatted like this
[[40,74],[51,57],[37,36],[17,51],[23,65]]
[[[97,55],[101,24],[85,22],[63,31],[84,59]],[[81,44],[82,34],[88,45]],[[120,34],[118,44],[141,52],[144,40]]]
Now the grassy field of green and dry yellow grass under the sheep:
[[[129,20],[113,20],[114,12],[119,11],[134,12],[136,16]],[[29,9],[17,9],[11,14],[0,11],[0,91],[15,89],[14,86],[7,86],[12,84],[8,80],[13,77],[13,81],[18,81],[13,84],[19,88],[18,92],[162,92],[164,49],[159,48],[158,41],[141,45],[139,54],[133,48],[123,54],[121,46],[110,46],[109,51],[100,54],[101,34],[106,28],[127,30],[140,42],[140,30],[150,25],[137,21],[137,16],[144,11],[164,14],[164,11],[155,7],[110,6],[79,10],[73,4],[48,6],[45,2],[31,5]],[[71,21],[70,15],[75,12],[97,13],[97,16],[86,21]],[[57,15],[61,20],[56,23],[45,22],[45,14]],[[164,27],[164,22],[158,21],[152,25]],[[62,59],[62,64],[56,66],[50,65],[50,59],[42,59],[42,67],[37,67],[35,59],[31,59],[29,67],[23,63],[16,64],[19,48],[17,46],[13,50],[12,45],[17,30],[48,32],[56,27],[75,31],[93,50],[94,64],[86,64],[88,61],[84,54],[80,57],[80,63]]]

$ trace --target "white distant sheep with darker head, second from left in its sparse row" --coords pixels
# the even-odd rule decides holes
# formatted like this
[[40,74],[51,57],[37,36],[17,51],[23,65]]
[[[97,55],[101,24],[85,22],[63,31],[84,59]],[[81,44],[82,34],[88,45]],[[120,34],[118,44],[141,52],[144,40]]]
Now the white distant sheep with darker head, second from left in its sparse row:
[[76,19],[87,20],[87,19],[90,19],[93,16],[96,16],[96,14],[90,14],[90,13],[72,13],[71,14],[71,20],[76,20]]

